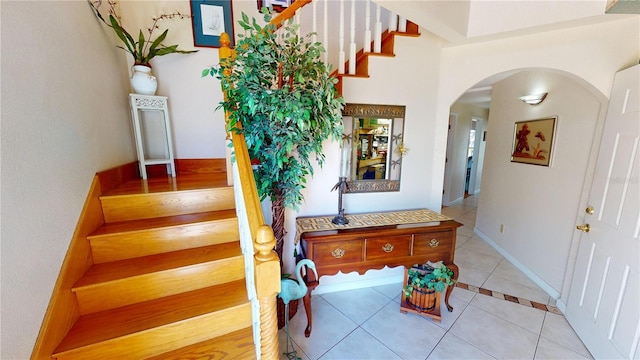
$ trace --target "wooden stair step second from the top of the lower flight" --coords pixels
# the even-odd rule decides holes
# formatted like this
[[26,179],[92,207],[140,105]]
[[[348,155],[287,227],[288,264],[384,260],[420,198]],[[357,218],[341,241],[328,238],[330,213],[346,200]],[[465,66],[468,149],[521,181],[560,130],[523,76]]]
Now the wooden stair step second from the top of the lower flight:
[[94,263],[105,263],[240,238],[235,210],[107,223],[87,237]]

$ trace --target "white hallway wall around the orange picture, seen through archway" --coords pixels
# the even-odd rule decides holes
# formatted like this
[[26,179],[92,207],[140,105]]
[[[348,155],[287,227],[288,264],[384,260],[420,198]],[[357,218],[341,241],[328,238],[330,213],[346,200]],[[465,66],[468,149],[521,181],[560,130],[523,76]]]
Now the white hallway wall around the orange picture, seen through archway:
[[[547,99],[518,99],[544,84]],[[590,149],[606,103],[562,74],[523,71],[493,86],[476,230],[560,293]],[[557,116],[549,167],[511,162],[516,121]],[[547,135],[548,136],[548,135]],[[504,232],[500,226],[504,225]]]

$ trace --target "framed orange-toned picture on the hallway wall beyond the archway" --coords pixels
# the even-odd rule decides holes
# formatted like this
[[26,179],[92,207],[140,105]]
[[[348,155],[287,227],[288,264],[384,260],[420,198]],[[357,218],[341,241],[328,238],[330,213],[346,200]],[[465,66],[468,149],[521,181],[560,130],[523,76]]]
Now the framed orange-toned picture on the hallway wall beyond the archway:
[[511,162],[549,166],[557,120],[557,116],[551,116],[516,122]]

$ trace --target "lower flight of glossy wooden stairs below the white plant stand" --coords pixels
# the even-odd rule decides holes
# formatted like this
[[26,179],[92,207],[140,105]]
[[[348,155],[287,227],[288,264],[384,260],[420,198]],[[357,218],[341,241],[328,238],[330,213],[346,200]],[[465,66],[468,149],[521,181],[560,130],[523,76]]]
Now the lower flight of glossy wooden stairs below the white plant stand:
[[93,264],[56,359],[255,358],[226,173],[135,179],[100,197]]

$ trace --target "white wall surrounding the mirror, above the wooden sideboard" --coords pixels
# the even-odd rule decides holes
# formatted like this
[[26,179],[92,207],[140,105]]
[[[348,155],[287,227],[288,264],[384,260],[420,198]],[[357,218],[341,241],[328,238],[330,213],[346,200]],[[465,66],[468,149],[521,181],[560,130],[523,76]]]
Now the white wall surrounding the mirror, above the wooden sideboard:
[[[400,191],[345,194],[342,204],[346,213],[413,208],[438,211],[440,208],[440,195],[425,191],[433,186],[433,179],[423,175],[439,166],[427,154],[433,146],[430,129],[435,118],[430,109],[437,98],[440,43],[438,38],[425,33],[420,38],[396,37],[395,45],[395,58],[369,59],[370,78],[345,78],[343,96],[348,103],[406,106],[404,144],[409,153],[402,160]],[[425,71],[416,72],[414,69],[418,67]],[[307,182],[300,212],[287,212],[286,244],[289,246],[293,242],[297,216],[337,213],[338,194],[330,190],[338,181],[339,144],[327,141],[324,152],[326,164],[323,169],[316,169],[314,178]],[[285,248],[285,254],[289,253],[292,250]]]

